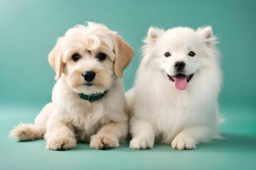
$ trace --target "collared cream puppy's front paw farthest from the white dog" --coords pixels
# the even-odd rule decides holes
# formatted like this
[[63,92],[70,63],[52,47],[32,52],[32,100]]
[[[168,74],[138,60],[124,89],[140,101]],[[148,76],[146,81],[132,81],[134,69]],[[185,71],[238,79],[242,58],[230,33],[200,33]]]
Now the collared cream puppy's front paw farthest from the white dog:
[[76,140],[73,137],[52,137],[47,140],[46,149],[68,150],[74,148]]

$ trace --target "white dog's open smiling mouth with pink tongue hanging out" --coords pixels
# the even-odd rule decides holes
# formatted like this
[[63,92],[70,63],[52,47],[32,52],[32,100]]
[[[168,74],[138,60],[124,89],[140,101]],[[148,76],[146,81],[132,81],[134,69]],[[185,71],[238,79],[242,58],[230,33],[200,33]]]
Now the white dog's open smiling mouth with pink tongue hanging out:
[[186,76],[179,73],[175,76],[170,76],[169,74],[167,74],[167,76],[169,77],[169,80],[174,82],[177,90],[183,91],[188,87],[188,82],[192,79],[193,74]]

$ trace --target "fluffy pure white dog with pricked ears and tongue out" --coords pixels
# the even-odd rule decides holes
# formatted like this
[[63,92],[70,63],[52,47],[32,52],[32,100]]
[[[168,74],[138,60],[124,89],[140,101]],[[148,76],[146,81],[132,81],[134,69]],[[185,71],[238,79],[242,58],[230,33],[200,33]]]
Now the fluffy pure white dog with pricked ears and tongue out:
[[220,52],[210,26],[149,28],[134,88],[127,92],[132,149],[174,149],[218,139]]

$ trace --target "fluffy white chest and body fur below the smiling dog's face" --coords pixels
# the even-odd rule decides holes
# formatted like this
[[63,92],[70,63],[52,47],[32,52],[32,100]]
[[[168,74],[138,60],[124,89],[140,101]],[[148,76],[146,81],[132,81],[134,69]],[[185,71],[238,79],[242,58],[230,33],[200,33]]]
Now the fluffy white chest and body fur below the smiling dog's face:
[[[146,84],[144,79],[152,74],[159,79]],[[215,135],[218,125],[218,103],[215,99],[217,96],[208,94],[209,91],[203,87],[195,89],[198,79],[199,77],[194,77],[191,81],[194,86],[189,86],[187,91],[176,91],[171,81],[167,77],[164,79],[161,72],[149,71],[143,74],[143,79],[137,79],[134,91],[139,94],[134,103],[136,112],[139,113],[137,116],[151,123],[155,130],[156,142],[169,144],[179,132],[192,126],[206,125]],[[211,97],[207,99],[206,96]]]

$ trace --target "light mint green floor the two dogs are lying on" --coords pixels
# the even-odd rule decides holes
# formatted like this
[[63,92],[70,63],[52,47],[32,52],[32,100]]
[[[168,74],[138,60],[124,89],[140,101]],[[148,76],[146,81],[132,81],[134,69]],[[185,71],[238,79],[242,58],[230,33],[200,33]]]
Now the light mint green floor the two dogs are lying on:
[[46,141],[17,142],[9,130],[21,120],[33,122],[41,106],[0,107],[0,169],[255,169],[256,107],[238,103],[220,107],[227,120],[220,127],[225,140],[176,151],[166,145],[133,150],[95,150],[87,144],[65,152],[45,149]]

